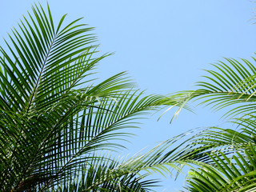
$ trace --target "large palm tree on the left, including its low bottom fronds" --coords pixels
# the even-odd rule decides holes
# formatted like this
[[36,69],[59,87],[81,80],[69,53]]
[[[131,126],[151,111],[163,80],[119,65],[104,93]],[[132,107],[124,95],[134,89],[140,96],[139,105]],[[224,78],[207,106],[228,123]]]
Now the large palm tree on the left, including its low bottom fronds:
[[148,174],[179,169],[189,152],[165,151],[184,135],[132,158],[111,154],[139,118],[179,103],[144,96],[126,73],[96,84],[110,54],[97,56],[93,28],[81,18],[64,25],[66,15],[55,25],[49,6],[32,10],[0,48],[0,190],[150,191]]

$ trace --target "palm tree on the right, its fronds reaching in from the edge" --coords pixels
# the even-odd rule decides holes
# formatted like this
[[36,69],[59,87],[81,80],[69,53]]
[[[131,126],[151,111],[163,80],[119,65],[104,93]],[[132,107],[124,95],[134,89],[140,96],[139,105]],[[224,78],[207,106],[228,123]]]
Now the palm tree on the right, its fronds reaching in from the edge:
[[192,100],[226,110],[223,118],[236,126],[235,130],[210,127],[186,142],[198,152],[198,158],[187,161],[194,168],[187,176],[186,191],[256,190],[256,59],[225,60],[206,70],[197,90],[174,94],[183,106]]

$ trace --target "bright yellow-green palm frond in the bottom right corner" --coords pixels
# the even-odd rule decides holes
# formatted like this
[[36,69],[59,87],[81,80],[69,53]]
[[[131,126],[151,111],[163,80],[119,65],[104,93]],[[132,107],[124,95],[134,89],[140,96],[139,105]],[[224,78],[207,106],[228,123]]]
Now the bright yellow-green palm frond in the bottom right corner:
[[[250,150],[237,153],[228,158],[225,154],[209,154],[215,166],[201,165],[190,172],[186,186],[187,191],[248,191],[254,190],[256,184],[256,152],[248,142]],[[220,158],[221,156],[222,158]]]

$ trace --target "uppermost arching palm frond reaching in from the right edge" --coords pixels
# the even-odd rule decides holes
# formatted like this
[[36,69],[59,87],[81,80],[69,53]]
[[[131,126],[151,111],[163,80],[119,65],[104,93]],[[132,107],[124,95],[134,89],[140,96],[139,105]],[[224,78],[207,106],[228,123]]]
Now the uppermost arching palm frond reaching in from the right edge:
[[174,94],[177,101],[186,104],[190,100],[211,106],[214,110],[231,107],[225,114],[233,118],[236,115],[254,114],[256,68],[253,62],[225,58],[226,62],[213,64],[214,70],[206,70],[204,81],[196,84],[197,90],[186,90]]

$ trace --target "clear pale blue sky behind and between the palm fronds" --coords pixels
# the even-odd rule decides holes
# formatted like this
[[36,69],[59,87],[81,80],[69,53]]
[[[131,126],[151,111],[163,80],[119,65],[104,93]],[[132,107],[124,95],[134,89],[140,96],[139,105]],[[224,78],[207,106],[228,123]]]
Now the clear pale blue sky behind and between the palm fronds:
[[[34,1],[2,1],[0,43]],[[46,1],[39,0],[46,7]],[[82,22],[96,27],[102,54],[115,52],[100,62],[101,79],[127,70],[141,90],[148,94],[170,94],[193,89],[194,82],[211,69],[209,63],[226,58],[254,56],[256,3],[250,0],[49,0],[54,21],[68,14],[67,21],[84,17]],[[185,110],[170,124],[173,113],[157,122],[158,115],[143,121],[136,137],[123,154],[134,154],[146,146],[204,126],[222,126],[224,112],[209,108]],[[158,175],[159,176],[159,175]],[[163,179],[157,191],[181,189],[183,177]]]

